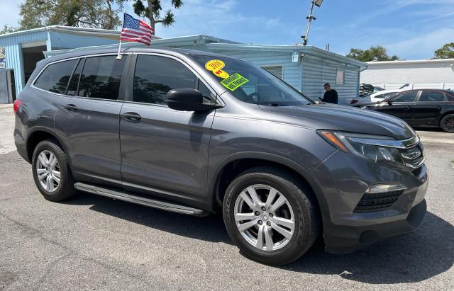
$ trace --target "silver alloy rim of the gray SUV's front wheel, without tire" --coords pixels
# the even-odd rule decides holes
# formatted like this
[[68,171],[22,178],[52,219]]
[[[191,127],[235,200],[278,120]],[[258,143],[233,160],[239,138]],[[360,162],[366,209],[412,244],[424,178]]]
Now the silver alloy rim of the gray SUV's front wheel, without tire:
[[294,234],[292,206],[271,186],[257,184],[241,191],[234,217],[241,236],[262,251],[282,249]]

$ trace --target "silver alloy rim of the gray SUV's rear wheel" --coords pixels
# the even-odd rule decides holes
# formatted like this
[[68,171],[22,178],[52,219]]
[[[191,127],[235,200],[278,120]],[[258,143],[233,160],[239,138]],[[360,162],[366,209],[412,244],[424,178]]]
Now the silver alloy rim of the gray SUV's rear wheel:
[[54,192],[60,186],[60,165],[55,154],[47,149],[38,155],[36,173],[41,187],[46,191]]

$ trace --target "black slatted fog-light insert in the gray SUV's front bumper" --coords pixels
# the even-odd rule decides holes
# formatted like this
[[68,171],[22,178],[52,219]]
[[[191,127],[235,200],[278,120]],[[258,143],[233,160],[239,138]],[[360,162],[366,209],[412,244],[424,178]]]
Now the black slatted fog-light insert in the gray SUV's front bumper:
[[353,212],[370,212],[391,207],[399,199],[404,190],[383,193],[365,193]]

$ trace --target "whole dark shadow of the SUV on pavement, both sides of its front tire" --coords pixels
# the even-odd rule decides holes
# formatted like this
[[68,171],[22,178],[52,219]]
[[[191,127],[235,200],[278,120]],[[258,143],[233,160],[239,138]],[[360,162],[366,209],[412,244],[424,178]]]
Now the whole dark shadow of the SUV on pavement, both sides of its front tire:
[[[91,210],[172,234],[232,244],[220,215],[191,217],[86,193],[67,203],[93,205]],[[449,270],[453,262],[453,225],[427,212],[421,227],[412,234],[343,256],[325,253],[319,243],[295,263],[279,268],[319,275],[337,274],[362,283],[393,284],[426,280]]]

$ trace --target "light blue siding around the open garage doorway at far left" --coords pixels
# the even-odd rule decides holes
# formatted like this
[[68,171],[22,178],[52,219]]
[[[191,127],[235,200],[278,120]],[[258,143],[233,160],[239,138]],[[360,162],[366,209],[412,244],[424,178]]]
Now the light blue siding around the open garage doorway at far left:
[[25,76],[23,74],[22,43],[47,40],[46,31],[26,33],[21,35],[11,35],[9,38],[0,39],[0,47],[5,47],[6,68],[14,68],[14,81],[16,82],[16,94],[21,92],[25,86]]

